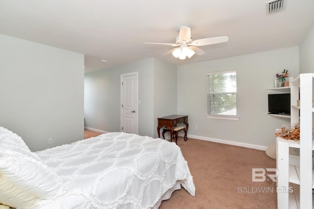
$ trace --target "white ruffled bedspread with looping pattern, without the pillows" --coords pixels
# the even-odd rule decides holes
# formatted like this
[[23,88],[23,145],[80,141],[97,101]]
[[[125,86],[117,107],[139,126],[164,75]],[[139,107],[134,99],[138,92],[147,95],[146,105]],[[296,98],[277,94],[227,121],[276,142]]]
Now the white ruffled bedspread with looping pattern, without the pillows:
[[180,148],[162,139],[108,133],[36,154],[58,173],[66,193],[40,209],[148,209],[176,183],[195,195]]

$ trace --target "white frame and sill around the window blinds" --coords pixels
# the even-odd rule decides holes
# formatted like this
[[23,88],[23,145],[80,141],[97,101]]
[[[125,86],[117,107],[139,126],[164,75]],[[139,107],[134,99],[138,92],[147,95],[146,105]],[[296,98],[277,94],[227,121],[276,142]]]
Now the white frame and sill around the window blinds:
[[237,70],[224,70],[224,71],[215,71],[215,72],[208,72],[207,73],[207,97],[209,95],[209,75],[214,75],[214,74],[223,74],[223,73],[230,73],[230,72],[235,72],[235,76],[236,76],[236,92],[230,92],[230,93],[235,93],[236,94],[236,116],[232,116],[232,115],[209,115],[208,114],[208,108],[209,108],[209,102],[208,102],[208,98],[207,98],[207,114],[206,117],[210,118],[210,119],[224,119],[224,120],[239,120],[239,116],[238,116],[238,107],[237,107]]

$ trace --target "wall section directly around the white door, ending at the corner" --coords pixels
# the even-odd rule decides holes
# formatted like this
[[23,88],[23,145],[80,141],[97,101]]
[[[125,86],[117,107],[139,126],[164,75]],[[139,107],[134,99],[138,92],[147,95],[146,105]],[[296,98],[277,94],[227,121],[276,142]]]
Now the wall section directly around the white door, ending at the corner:
[[85,73],[85,127],[121,131],[120,75],[138,72],[138,134],[154,136],[153,58]]

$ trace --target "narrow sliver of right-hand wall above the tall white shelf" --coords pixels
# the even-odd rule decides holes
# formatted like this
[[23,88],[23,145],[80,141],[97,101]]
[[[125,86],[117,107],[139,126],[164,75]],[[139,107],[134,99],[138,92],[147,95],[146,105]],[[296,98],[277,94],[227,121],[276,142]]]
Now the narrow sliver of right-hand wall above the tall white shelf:
[[314,23],[300,44],[300,73],[314,72]]

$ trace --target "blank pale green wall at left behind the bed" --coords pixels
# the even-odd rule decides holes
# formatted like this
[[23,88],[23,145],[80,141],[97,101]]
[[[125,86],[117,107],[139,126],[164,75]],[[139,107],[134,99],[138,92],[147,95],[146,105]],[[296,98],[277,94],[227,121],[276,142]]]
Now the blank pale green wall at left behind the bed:
[[2,34],[0,46],[0,126],[32,151],[83,139],[84,55]]

